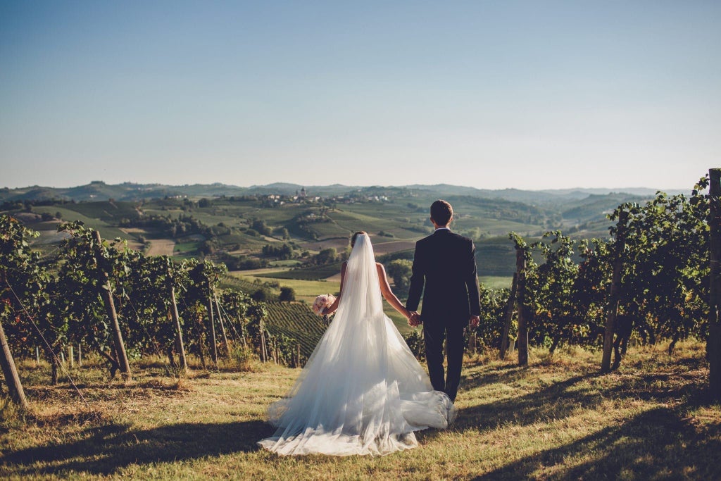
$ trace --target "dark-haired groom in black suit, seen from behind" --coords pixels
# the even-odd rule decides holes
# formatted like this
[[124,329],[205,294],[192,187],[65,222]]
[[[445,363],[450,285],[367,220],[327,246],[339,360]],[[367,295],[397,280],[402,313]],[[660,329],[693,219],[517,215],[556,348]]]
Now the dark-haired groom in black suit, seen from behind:
[[[473,241],[454,234],[448,226],[453,208],[445,200],[430,206],[432,235],[415,244],[406,309],[413,313],[408,324],[423,322],[425,358],[433,389],[451,401],[461,382],[464,327],[476,327],[480,306]],[[425,291],[423,289],[425,285]],[[416,312],[423,293],[423,316]],[[443,340],[447,339],[448,374],[443,374]]]

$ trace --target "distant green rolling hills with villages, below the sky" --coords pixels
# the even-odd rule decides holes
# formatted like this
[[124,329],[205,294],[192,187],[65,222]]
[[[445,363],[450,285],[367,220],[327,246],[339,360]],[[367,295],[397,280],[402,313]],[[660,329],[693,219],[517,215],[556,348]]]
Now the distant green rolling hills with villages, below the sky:
[[[634,193],[568,189],[482,190],[454,185],[405,187],[301,186],[275,183],[252,187],[161,185],[96,181],[68,188],[0,189],[0,212],[33,213],[25,221],[52,244],[62,221],[83,221],[103,237],[128,239],[133,247],[162,244],[182,257],[210,256],[229,265],[257,268],[273,262],[265,246],[288,244],[296,263],[322,250],[343,252],[356,230],[371,234],[379,255],[412,250],[432,229],[428,206],[445,198],[454,206],[453,229],[474,239],[482,275],[510,275],[515,265],[508,232],[536,238],[561,229],[575,237],[605,237],[606,215],[624,202],[643,202],[651,190]],[[301,195],[306,193],[305,196]],[[260,227],[258,227],[260,225]],[[144,247],[143,247],[144,246]],[[408,257],[408,255],[401,255]],[[318,278],[291,270],[283,278]],[[286,268],[287,270],[287,268]],[[323,271],[321,269],[321,271]]]

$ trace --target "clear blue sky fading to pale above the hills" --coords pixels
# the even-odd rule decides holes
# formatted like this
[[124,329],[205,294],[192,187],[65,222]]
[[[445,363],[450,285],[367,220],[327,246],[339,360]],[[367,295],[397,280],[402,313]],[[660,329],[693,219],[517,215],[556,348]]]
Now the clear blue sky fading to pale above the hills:
[[690,188],[720,1],[0,0],[0,187]]

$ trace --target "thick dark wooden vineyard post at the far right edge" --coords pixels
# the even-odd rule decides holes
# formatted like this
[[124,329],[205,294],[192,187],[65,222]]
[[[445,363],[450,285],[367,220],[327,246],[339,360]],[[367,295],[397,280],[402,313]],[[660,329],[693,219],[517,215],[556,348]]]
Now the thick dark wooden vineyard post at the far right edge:
[[721,400],[721,169],[709,169],[709,337],[706,357],[709,361],[709,394]]

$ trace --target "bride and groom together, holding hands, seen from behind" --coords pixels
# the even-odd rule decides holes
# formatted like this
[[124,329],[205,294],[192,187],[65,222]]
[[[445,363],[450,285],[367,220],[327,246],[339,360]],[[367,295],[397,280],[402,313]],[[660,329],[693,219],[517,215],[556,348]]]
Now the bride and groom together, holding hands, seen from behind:
[[[405,306],[368,234],[353,234],[340,294],[324,312],[335,318],[291,391],[269,407],[278,429],[262,447],[282,455],[384,455],[417,446],[415,431],[453,422],[464,330],[478,325],[480,308],[474,244],[449,229],[452,220],[445,200],[430,206],[435,231],[416,243]],[[384,314],[383,299],[410,326],[423,324],[428,375]]]

